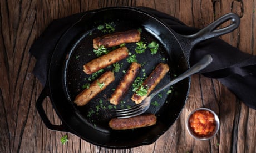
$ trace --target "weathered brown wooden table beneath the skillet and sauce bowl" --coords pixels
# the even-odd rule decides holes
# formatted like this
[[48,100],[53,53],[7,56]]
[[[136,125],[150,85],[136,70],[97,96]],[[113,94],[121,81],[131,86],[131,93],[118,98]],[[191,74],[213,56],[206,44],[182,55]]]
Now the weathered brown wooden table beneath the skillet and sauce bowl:
[[[189,99],[179,119],[156,142],[126,150],[98,147],[73,134],[51,131],[36,110],[43,89],[32,74],[36,59],[29,48],[53,19],[109,6],[146,6],[179,18],[197,28],[225,13],[241,17],[240,27],[221,39],[256,55],[256,0],[139,0],[139,1],[0,1],[0,152],[256,152],[256,111],[245,106],[218,80],[194,75]],[[255,93],[256,94],[256,93]],[[45,109],[53,124],[60,119],[49,99]],[[211,140],[193,139],[185,128],[190,111],[204,106],[220,118]],[[68,135],[62,145],[60,138]]]

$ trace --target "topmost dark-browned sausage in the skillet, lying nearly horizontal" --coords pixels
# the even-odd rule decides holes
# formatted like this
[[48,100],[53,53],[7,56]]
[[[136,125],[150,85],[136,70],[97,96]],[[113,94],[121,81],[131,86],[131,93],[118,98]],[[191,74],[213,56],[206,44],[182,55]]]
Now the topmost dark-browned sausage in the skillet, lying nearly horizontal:
[[139,30],[129,30],[125,32],[115,32],[93,39],[93,48],[98,49],[101,45],[105,48],[120,45],[122,43],[139,42]]

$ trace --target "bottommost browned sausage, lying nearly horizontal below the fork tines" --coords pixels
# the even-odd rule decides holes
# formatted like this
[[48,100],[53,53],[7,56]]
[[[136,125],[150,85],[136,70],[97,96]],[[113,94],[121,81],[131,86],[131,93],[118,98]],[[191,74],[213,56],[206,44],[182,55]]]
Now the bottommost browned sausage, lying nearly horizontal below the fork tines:
[[140,127],[152,126],[156,124],[156,116],[154,114],[143,114],[126,119],[111,119],[109,126],[114,130],[135,129]]

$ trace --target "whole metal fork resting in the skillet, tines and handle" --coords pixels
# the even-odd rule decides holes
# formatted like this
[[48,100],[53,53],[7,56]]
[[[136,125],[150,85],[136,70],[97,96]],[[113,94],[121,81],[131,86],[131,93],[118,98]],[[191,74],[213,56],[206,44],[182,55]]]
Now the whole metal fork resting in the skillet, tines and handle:
[[164,90],[165,88],[168,88],[171,85],[174,85],[175,83],[178,83],[179,81],[189,77],[190,75],[199,72],[200,70],[207,67],[212,61],[213,58],[211,57],[211,55],[205,55],[198,63],[193,65],[193,67],[189,68],[183,74],[179,75],[179,77],[176,77],[175,79],[170,81],[170,83],[164,85],[162,88],[156,90],[154,93],[151,93],[140,104],[132,106],[131,108],[116,110],[116,117],[119,119],[124,119],[131,118],[144,113],[149,108],[151,99],[155,95],[160,93],[160,91]]

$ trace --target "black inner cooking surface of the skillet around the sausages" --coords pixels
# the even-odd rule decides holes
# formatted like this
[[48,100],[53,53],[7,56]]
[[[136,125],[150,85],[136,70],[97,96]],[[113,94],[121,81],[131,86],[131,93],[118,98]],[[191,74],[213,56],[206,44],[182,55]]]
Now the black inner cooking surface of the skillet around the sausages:
[[[141,41],[144,44],[148,45],[152,41],[155,41],[159,44],[159,49],[156,54],[151,54],[150,49],[147,48],[145,53],[138,54],[135,52],[136,43],[127,43],[125,46],[129,49],[131,54],[136,54],[136,60],[138,63],[142,65],[140,73],[137,77],[144,78],[154,70],[157,64],[159,63],[168,63],[170,67],[170,71],[165,77],[161,80],[161,82],[156,86],[155,89],[160,88],[161,86],[169,83],[170,79],[173,78],[173,70],[171,69],[174,63],[170,59],[169,53],[166,51],[165,44],[161,42],[161,39],[152,30],[151,27],[147,27],[147,25],[136,24],[134,21],[110,21],[107,22],[112,27],[115,28],[115,32],[122,32],[125,30],[131,29],[140,29],[141,30]],[[98,75],[87,75],[83,72],[83,65],[87,62],[90,62],[92,59],[97,58],[95,53],[93,53],[93,42],[92,39],[96,37],[100,37],[102,35],[109,34],[109,32],[105,32],[104,30],[99,30],[99,25],[106,25],[106,22],[95,23],[90,30],[87,30],[84,33],[81,33],[74,40],[74,43],[71,47],[70,53],[67,55],[65,70],[64,70],[64,84],[67,93],[67,98],[72,103],[73,107],[76,110],[78,116],[85,121],[86,124],[91,125],[92,127],[99,129],[100,131],[109,132],[110,127],[108,125],[109,120],[115,117],[115,110],[121,108],[127,108],[129,106],[135,105],[135,103],[130,99],[132,94],[132,86],[129,91],[125,95],[125,97],[121,100],[121,102],[115,106],[109,103],[108,98],[110,98],[111,94],[114,92],[116,86],[120,83],[120,80],[125,74],[125,70],[127,70],[131,63],[128,63],[126,59],[118,62],[120,65],[120,69],[118,72],[114,72],[115,81],[111,83],[107,88],[99,93],[95,98],[93,98],[88,104],[85,106],[76,106],[73,103],[76,95],[78,95],[88,83],[92,83],[93,80],[96,80],[102,73],[107,70],[114,70],[114,66],[111,65],[107,68],[104,68],[104,72],[98,73]],[[156,31],[157,32],[157,31]],[[116,48],[116,47],[115,47]],[[114,48],[107,48],[108,50],[113,50]],[[173,87],[171,87],[173,88]],[[153,103],[150,106],[150,109],[147,113],[154,113],[157,115],[157,112],[160,110],[161,106],[165,104],[168,99],[171,98],[172,94],[166,94],[168,90],[162,91],[158,96],[152,100]]]

